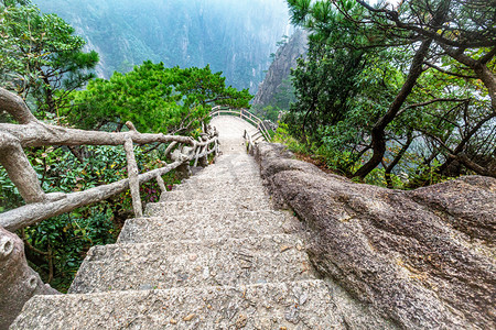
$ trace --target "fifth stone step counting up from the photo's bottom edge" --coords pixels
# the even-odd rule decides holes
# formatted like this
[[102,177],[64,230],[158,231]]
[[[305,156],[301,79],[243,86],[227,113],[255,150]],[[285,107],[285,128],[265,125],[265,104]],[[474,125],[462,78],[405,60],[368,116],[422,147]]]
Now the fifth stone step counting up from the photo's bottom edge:
[[[229,187],[229,188],[228,188]],[[160,201],[184,201],[184,200],[202,200],[202,199],[225,199],[244,200],[246,196],[259,196],[269,199],[266,189],[259,185],[251,186],[223,186],[222,189],[213,189],[212,187],[201,188],[183,188],[163,193]]]

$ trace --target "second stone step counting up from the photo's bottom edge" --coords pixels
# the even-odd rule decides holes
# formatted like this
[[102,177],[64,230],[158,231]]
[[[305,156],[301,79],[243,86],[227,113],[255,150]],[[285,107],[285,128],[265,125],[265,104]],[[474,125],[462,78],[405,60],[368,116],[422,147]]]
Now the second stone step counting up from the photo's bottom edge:
[[310,278],[315,278],[315,274],[303,242],[288,234],[109,244],[89,250],[69,293],[238,286]]

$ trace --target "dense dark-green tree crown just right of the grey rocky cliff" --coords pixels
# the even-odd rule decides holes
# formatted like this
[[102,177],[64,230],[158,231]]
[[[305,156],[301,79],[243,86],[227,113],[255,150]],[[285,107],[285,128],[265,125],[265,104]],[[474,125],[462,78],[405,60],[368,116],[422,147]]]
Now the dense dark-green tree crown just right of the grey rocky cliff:
[[293,134],[316,142],[320,127],[334,125],[351,110],[359,88],[358,75],[364,66],[363,52],[335,51],[311,41],[308,59],[299,59],[292,72],[296,101],[287,121]]

